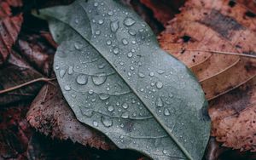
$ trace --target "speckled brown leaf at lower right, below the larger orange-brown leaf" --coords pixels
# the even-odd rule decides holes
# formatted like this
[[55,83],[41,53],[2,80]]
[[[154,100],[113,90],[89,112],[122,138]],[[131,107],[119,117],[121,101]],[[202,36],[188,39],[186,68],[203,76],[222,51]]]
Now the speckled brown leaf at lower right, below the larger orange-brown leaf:
[[256,151],[256,78],[210,103],[212,136],[224,146]]

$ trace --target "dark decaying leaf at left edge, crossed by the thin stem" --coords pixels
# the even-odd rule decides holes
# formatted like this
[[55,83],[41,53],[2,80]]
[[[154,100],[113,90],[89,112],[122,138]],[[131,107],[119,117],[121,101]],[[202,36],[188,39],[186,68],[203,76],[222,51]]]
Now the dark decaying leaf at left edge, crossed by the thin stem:
[[[43,76],[29,66],[19,54],[13,51],[9,56],[8,63],[0,68],[0,90],[9,89],[39,77]],[[0,106],[5,106],[20,100],[32,99],[41,87],[41,83],[33,83],[21,89],[16,89],[6,94],[0,94]]]

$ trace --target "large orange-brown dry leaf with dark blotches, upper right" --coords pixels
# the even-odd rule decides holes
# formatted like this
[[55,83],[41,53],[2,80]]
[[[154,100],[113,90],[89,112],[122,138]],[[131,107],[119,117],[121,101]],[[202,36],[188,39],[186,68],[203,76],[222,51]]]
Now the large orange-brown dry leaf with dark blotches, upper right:
[[[256,60],[191,50],[256,54],[256,19],[228,0],[189,0],[160,35],[160,45],[182,60],[201,82],[207,100],[256,75]],[[189,51],[190,50],[190,51]]]

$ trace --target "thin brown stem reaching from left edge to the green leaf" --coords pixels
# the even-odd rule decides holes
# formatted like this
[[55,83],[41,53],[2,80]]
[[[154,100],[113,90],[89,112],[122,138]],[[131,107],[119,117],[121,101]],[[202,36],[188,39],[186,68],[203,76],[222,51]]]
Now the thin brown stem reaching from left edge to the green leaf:
[[32,84],[32,83],[38,83],[38,82],[50,83],[50,84],[52,84],[52,85],[55,86],[54,83],[51,83],[51,82],[50,82],[50,81],[54,81],[55,79],[56,79],[56,78],[40,77],[40,78],[38,78],[38,79],[34,79],[34,80],[29,81],[29,82],[27,82],[27,83],[23,83],[23,84],[20,84],[20,85],[15,86],[15,87],[11,87],[11,88],[9,88],[9,89],[0,90],[0,94],[6,94],[6,93],[11,92],[11,91],[13,91],[13,90],[15,90],[15,89],[20,89],[20,88],[25,87],[25,86],[27,86],[27,85],[30,85],[30,84]]

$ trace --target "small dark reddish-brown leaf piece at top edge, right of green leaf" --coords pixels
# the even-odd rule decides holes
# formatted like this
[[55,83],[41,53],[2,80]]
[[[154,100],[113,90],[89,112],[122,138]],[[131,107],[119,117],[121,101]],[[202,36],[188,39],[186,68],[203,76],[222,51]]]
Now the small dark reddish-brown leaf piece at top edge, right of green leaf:
[[175,14],[178,13],[178,8],[185,2],[184,0],[168,1],[168,0],[140,0],[154,12],[154,17],[163,25],[169,20],[172,20]]

